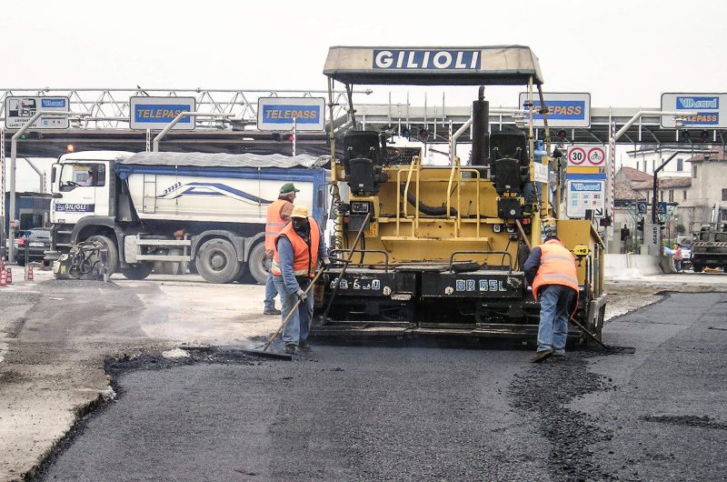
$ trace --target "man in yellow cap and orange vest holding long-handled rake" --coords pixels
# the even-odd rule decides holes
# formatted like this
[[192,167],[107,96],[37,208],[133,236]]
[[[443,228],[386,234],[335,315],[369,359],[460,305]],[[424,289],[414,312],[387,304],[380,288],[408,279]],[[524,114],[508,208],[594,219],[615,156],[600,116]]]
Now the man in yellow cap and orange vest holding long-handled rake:
[[285,353],[293,354],[296,347],[310,349],[307,340],[313,318],[313,293],[306,293],[306,289],[315,276],[318,262],[324,266],[331,262],[325,254],[323,233],[315,219],[308,216],[308,208],[295,206],[290,216],[290,224],[275,236],[270,270],[280,293],[283,319],[293,310],[295,302],[300,301],[297,313],[283,328]]

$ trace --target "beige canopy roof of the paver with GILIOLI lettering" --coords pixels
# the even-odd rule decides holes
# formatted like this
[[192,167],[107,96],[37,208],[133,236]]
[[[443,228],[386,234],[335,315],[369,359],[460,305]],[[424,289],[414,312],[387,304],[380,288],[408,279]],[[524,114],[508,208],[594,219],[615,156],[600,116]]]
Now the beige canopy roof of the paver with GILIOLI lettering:
[[538,57],[523,45],[473,47],[333,46],[324,75],[344,84],[543,84]]

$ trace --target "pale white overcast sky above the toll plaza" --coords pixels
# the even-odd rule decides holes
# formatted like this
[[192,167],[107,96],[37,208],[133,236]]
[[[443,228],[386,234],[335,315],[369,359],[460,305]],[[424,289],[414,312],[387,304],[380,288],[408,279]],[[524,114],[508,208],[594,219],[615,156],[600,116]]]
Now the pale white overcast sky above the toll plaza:
[[[725,18],[719,0],[36,0],[0,15],[0,86],[323,90],[330,45],[518,44],[538,55],[546,92],[590,92],[594,107],[657,107],[662,92],[727,91]],[[390,90],[373,89],[381,99]],[[515,105],[518,90],[487,96]],[[429,92],[441,103],[443,89]],[[475,95],[458,87],[447,103]]]

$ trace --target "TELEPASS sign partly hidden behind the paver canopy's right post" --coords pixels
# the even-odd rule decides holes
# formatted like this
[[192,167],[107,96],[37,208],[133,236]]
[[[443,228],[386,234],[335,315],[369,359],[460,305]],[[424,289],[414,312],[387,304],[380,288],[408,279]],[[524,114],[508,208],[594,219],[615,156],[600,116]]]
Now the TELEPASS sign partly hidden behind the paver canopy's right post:
[[[590,127],[591,126],[591,94],[578,92],[546,92],[543,93],[545,105],[548,107],[549,127]],[[520,93],[520,108],[528,99],[526,92]],[[535,110],[540,110],[540,99],[534,95]],[[542,114],[533,114],[533,127],[543,127]]]

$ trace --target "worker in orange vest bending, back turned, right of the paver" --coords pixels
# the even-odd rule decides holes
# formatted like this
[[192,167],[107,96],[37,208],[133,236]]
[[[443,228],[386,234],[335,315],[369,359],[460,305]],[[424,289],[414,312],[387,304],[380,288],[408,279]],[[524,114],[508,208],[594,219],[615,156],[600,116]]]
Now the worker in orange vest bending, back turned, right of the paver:
[[575,258],[558,236],[549,235],[536,246],[523,266],[533,296],[540,301],[538,350],[531,358],[540,363],[553,356],[563,359],[568,319],[578,306],[578,273]]

